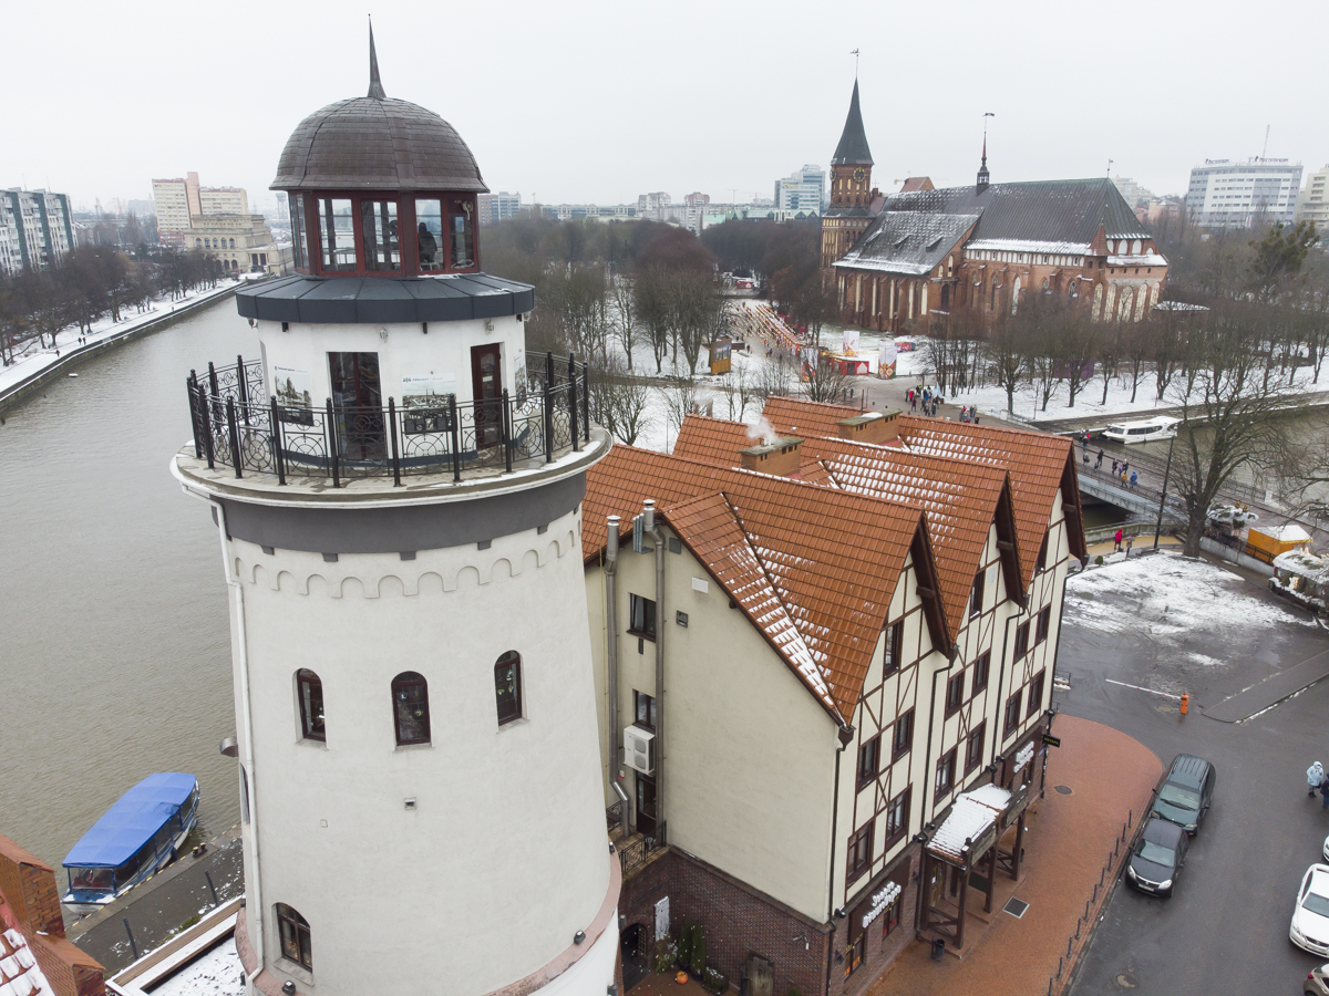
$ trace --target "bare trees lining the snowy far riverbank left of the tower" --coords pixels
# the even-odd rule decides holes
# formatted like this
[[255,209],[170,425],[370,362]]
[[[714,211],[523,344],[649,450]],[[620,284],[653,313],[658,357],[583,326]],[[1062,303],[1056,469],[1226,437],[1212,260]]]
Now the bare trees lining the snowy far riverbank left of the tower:
[[120,321],[130,308],[146,311],[155,297],[182,297],[215,287],[222,264],[202,250],[162,250],[130,258],[108,246],[78,246],[47,270],[0,274],[0,359],[36,340],[39,348],[77,327],[80,335],[109,315]]

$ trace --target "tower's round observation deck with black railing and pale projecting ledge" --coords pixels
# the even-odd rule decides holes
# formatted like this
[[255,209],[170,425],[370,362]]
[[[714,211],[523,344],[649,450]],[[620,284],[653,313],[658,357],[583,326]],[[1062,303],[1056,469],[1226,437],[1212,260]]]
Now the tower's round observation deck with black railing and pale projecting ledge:
[[173,461],[190,491],[286,507],[389,507],[498,495],[573,477],[609,452],[591,426],[589,367],[526,353],[516,394],[432,406],[284,405],[260,361],[190,371],[193,440]]

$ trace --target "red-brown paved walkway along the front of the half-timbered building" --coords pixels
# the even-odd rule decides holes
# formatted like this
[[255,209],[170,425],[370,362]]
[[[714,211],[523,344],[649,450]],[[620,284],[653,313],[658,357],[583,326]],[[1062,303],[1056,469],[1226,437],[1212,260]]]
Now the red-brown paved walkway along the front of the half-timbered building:
[[[1163,764],[1139,741],[1090,720],[1062,714],[1054,732],[1062,746],[1049,753],[1047,797],[1029,818],[1021,869],[1025,880],[1014,890],[1029,903],[1025,916],[1015,919],[995,910],[991,924],[964,959],[932,961],[926,944],[910,944],[869,991],[872,996],[1041,996],[1049,992],[1049,983],[1053,993],[1062,992],[1071,965],[1061,963],[1058,980],[1058,961],[1067,944],[1074,960],[1087,943],[1088,926],[1080,927],[1075,940],[1079,918],[1090,903],[1088,923],[1096,920],[1115,882],[1106,876],[1091,902],[1104,862],[1127,813],[1139,819]],[[1070,794],[1054,786],[1069,788]],[[1119,866],[1120,855],[1114,871]],[[983,930],[983,924],[974,919],[968,930]]]

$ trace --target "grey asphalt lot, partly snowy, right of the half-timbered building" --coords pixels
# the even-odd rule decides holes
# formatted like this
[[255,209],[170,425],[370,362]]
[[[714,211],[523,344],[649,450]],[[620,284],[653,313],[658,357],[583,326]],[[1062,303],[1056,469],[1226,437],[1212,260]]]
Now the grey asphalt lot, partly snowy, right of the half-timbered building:
[[[1244,722],[1203,710],[1329,649],[1306,614],[1282,611],[1259,579],[1213,566],[1136,588],[1128,574],[1073,580],[1059,664],[1070,691],[1059,708],[1138,738],[1164,764],[1176,753],[1217,769],[1213,807],[1195,839],[1175,895],[1154,899],[1118,888],[1104,908],[1073,989],[1110,992],[1301,992],[1318,960],[1288,942],[1293,899],[1306,867],[1322,861],[1329,810],[1306,797],[1305,769],[1329,766],[1329,681]],[[1122,580],[1124,579],[1124,580]],[[1183,591],[1184,586],[1196,590]],[[1208,622],[1197,623],[1208,603]],[[1191,696],[1174,700],[1124,685]]]

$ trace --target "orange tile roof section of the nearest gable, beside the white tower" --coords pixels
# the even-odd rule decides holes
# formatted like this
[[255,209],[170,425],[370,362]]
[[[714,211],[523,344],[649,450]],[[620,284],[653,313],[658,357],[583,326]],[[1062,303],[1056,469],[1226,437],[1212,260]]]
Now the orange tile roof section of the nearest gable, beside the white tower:
[[[582,554],[654,498],[800,680],[841,724],[853,716],[905,556],[926,559],[917,509],[676,456],[615,446],[587,473]],[[922,543],[918,543],[918,538]],[[932,563],[922,564],[925,576]],[[949,645],[945,619],[934,640]]]

